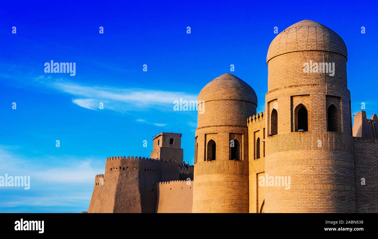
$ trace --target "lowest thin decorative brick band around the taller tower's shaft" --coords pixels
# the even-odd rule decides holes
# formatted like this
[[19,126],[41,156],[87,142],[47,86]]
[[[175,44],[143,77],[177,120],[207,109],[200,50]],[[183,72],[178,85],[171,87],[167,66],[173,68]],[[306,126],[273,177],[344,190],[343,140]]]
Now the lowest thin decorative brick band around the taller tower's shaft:
[[285,186],[267,186],[265,187],[265,192],[276,192],[276,191],[303,191],[303,190],[325,190],[325,191],[356,191],[355,185],[346,184],[332,184],[332,183],[298,183],[290,184],[290,189],[285,189]]

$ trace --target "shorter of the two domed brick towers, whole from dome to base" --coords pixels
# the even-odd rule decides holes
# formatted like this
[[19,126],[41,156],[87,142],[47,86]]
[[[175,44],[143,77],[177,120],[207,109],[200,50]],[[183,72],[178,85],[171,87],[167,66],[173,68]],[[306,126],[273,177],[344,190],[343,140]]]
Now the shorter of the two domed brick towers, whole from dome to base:
[[203,87],[198,104],[193,213],[248,213],[246,119],[256,114],[256,93],[226,73]]

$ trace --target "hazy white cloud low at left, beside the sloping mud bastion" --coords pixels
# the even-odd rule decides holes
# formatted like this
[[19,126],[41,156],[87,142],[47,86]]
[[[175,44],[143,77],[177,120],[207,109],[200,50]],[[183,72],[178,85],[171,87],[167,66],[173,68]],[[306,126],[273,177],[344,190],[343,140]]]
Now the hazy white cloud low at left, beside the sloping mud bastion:
[[80,212],[88,208],[95,175],[104,173],[103,163],[100,165],[94,158],[71,155],[60,158],[40,156],[44,161],[66,162],[51,166],[17,153],[19,149],[17,146],[0,145],[0,174],[30,176],[30,189],[0,187],[0,192],[5,193],[0,194],[0,208],[3,211]]

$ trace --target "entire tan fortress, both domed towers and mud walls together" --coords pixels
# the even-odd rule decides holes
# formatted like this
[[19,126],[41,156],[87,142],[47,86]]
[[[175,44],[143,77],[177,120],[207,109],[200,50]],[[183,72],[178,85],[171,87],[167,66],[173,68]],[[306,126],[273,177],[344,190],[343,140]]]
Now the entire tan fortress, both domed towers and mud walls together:
[[213,79],[198,95],[194,166],[181,134],[162,132],[158,160],[107,158],[88,213],[378,213],[378,117],[361,111],[352,129],[347,60],[327,26],[289,26],[268,49],[263,112],[242,79]]

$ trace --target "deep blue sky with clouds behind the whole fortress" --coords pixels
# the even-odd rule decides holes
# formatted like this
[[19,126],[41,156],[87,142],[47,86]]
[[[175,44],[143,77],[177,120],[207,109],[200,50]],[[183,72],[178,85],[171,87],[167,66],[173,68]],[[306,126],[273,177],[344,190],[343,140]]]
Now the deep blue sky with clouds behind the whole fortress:
[[[352,113],[361,102],[377,113],[376,12],[373,1],[2,3],[0,175],[30,175],[31,188],[0,188],[0,212],[87,210],[105,158],[149,157],[160,132],[182,133],[192,163],[197,112],[174,111],[173,101],[196,100],[234,64],[264,110],[274,26],[310,19],[336,31],[348,47]],[[76,75],[45,73],[51,60],[76,62]]]

